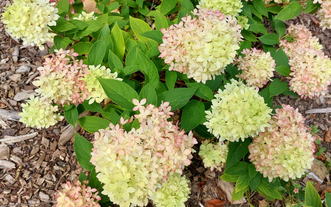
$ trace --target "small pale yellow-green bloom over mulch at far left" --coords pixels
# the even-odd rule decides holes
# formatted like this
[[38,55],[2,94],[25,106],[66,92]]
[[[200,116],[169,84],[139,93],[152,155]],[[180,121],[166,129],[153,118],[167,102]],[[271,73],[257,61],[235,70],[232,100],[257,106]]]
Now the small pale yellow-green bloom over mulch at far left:
[[45,98],[31,95],[26,104],[23,103],[21,106],[22,112],[19,115],[22,118],[20,122],[26,124],[27,127],[49,128],[64,118],[60,115],[58,106],[48,103]]

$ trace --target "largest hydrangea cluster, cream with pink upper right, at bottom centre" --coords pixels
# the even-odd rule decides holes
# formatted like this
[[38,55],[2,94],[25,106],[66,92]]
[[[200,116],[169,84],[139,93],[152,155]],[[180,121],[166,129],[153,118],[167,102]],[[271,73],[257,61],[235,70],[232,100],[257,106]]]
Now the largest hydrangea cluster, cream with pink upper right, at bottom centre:
[[[173,175],[182,174],[184,166],[191,163],[192,146],[197,143],[190,131],[179,131],[179,127],[167,121],[171,112],[169,102],[160,107],[143,105],[133,99],[134,116],[140,126],[125,131],[120,125],[110,124],[107,129],[95,133],[90,162],[95,166],[99,181],[110,200],[120,207],[146,206],[148,198],[155,197],[156,188]],[[131,122],[122,120],[121,124]]]

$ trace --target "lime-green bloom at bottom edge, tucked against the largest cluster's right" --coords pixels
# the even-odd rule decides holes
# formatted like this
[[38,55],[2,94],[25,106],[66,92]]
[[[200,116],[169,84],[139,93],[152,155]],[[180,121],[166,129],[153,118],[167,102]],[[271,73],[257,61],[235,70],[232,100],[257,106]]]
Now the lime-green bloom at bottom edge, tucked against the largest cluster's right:
[[153,199],[156,207],[185,207],[184,202],[190,197],[190,188],[188,187],[189,180],[185,176],[180,176],[178,173],[168,176],[168,179],[162,183]]

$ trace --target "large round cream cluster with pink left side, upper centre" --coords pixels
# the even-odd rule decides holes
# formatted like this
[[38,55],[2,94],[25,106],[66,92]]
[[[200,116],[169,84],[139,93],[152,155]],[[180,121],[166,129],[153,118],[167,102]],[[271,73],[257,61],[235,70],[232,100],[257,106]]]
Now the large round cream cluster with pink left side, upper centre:
[[161,29],[164,35],[159,57],[170,65],[170,71],[205,83],[224,73],[235,60],[242,40],[241,26],[219,10],[195,9],[192,14],[195,17],[187,15],[178,25]]

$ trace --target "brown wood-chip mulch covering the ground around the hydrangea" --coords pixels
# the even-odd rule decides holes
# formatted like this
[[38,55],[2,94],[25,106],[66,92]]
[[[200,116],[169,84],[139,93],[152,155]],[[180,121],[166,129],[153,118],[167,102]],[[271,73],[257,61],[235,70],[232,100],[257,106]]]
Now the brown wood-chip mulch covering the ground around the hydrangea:
[[[0,13],[3,7],[8,5],[9,1],[1,1]],[[318,20],[311,15],[300,15],[294,21],[305,24],[319,37],[324,46],[326,55],[331,54],[331,33],[329,30],[322,31],[316,24]],[[15,40],[5,32],[4,25],[0,22],[0,110],[21,111],[21,104],[25,101],[29,93],[33,93],[35,87],[32,85],[33,77],[38,75],[37,67],[42,65],[43,59],[48,56],[48,48],[51,43],[45,46],[45,50],[40,51],[37,47],[23,46],[22,42]],[[13,56],[14,54],[14,56]],[[18,55],[15,57],[15,55]],[[25,98],[24,98],[25,96]],[[277,96],[274,105],[290,104],[299,108],[306,117],[306,125],[316,125],[320,132],[321,147],[327,147],[325,156],[331,157],[331,114],[306,114],[305,112],[315,108],[330,108],[331,95],[320,98],[296,99],[288,96]],[[174,116],[175,121],[179,119]],[[1,116],[0,116],[1,117]],[[12,204],[33,204],[42,203],[35,206],[52,206],[54,202],[55,189],[65,180],[77,180],[83,168],[77,163],[73,151],[73,139],[65,144],[59,144],[59,139],[63,131],[67,129],[66,121],[59,122],[49,129],[37,130],[35,128],[25,128],[24,124],[10,120],[0,120],[0,139],[5,136],[19,136],[33,134],[34,137],[25,141],[4,144],[0,142],[0,160],[7,160],[11,163],[12,169],[1,169],[0,165],[0,207]],[[93,135],[79,129],[78,133],[88,140],[93,139]],[[201,137],[198,137],[201,141]],[[198,151],[198,146],[195,146]],[[5,161],[4,161],[5,162]],[[313,171],[323,180],[322,184],[317,181],[316,189],[321,193],[324,189],[331,187],[329,172],[324,165],[315,164]],[[197,153],[194,155],[192,165],[186,169],[186,176],[191,181],[191,198],[186,202],[186,206],[206,206],[206,202],[211,199],[228,198],[226,191],[230,192],[232,185],[225,185],[219,180],[221,173],[210,172],[203,168]],[[300,182],[304,184],[308,178]],[[226,186],[226,187],[224,187]],[[259,193],[253,193],[250,201],[254,206],[266,206],[266,199]],[[244,200],[242,200],[244,201]],[[280,207],[284,205],[283,201],[268,202],[270,206]],[[216,203],[217,204],[217,203]],[[219,204],[219,203],[218,203]],[[152,204],[150,204],[152,206]],[[207,205],[207,207],[222,205]],[[224,206],[249,206],[247,202],[242,204],[225,204]]]

